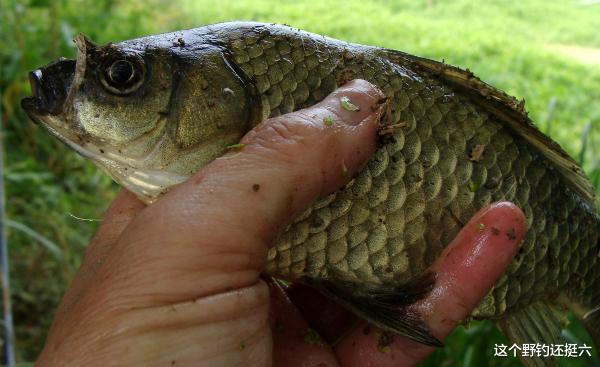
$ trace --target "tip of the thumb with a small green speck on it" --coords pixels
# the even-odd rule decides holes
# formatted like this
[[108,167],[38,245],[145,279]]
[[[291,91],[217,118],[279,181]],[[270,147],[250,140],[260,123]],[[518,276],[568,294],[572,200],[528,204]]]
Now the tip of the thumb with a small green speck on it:
[[323,101],[347,125],[356,126],[380,114],[385,95],[373,84],[356,79]]

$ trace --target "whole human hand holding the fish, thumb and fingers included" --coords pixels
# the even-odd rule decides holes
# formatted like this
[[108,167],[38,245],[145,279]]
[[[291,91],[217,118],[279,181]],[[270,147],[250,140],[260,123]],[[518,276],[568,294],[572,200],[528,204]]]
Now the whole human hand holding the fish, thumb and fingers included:
[[[360,111],[340,108],[341,96]],[[364,325],[345,333],[346,325],[334,322],[344,313],[329,302],[318,301],[328,317],[315,321],[307,304],[318,295],[304,290],[300,301],[291,292],[296,308],[280,287],[260,278],[278,233],[373,154],[379,111],[371,107],[381,98],[369,83],[353,81],[316,106],[260,124],[242,140],[244,149],[149,207],[124,191],[86,251],[37,365],[345,367],[423,358],[431,348],[401,337],[379,352]],[[327,116],[333,126],[324,123]],[[480,231],[479,223],[501,233],[514,228],[517,238]],[[524,231],[520,210],[497,204],[445,250],[432,266],[434,290],[415,305],[436,337],[470,314]],[[304,316],[326,339],[339,341],[307,343]]]

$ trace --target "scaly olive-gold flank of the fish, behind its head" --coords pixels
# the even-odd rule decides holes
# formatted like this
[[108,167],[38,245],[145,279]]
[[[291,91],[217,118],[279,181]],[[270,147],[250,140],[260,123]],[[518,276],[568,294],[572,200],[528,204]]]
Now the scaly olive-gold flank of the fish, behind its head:
[[[564,287],[575,269],[587,273],[594,266],[594,257],[581,262],[573,254],[582,251],[580,242],[595,243],[597,235],[579,231],[577,220],[566,221],[589,214],[575,205],[545,159],[486,111],[436,80],[423,82],[383,55],[355,46],[332,47],[311,37],[291,42],[283,34],[251,39],[252,46],[230,46],[256,83],[265,116],[314,104],[344,82],[362,78],[390,99],[393,112],[386,123],[407,124],[347,187],[289,226],[269,252],[269,273],[326,278],[334,270],[360,281],[407,282],[479,208],[500,200],[523,209],[529,230],[474,316],[500,316]],[[477,145],[485,150],[475,162],[469,155]],[[547,215],[548,208],[556,218]],[[565,265],[550,266],[550,258]]]

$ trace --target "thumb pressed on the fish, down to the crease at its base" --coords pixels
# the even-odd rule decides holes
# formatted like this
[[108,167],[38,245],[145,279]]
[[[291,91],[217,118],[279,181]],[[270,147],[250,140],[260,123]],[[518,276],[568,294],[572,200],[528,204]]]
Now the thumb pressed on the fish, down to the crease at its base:
[[[360,110],[344,110],[342,96]],[[143,289],[151,303],[256,283],[268,245],[294,215],[348,182],[375,151],[382,97],[373,85],[354,81],[311,108],[260,124],[242,150],[140,213],[104,281]],[[324,123],[327,117],[333,124]]]

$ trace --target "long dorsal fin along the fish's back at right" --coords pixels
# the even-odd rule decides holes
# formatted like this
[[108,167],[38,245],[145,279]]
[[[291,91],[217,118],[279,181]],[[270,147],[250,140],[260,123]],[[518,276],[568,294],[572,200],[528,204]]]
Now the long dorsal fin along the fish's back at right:
[[585,173],[556,142],[542,133],[525,111],[524,101],[492,87],[468,69],[413,56],[404,52],[384,50],[386,58],[401,66],[417,68],[442,79],[453,89],[467,95],[472,102],[492,113],[514,133],[533,145],[561,173],[564,181],[592,208],[596,208],[595,190]]

